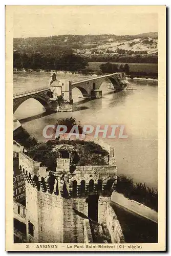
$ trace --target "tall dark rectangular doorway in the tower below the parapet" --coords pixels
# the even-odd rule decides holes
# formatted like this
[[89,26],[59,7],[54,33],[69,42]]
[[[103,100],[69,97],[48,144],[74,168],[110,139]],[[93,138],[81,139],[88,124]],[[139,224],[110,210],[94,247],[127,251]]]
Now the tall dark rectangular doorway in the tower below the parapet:
[[89,195],[88,197],[88,217],[98,222],[98,195]]

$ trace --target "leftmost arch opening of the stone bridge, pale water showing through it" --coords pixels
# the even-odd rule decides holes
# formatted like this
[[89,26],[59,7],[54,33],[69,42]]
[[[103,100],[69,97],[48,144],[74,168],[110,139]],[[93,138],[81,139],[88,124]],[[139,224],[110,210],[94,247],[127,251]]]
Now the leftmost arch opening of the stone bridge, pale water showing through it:
[[18,120],[30,118],[46,112],[46,109],[48,108],[48,103],[45,100],[38,98],[29,98],[18,106],[16,104],[14,108],[15,118]]

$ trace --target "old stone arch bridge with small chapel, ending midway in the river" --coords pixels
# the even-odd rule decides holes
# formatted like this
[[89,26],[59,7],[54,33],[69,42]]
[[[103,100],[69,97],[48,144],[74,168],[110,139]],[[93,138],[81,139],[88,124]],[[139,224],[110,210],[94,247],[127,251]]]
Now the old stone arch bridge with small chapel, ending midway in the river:
[[[72,89],[78,88],[85,98],[101,98],[102,92],[99,89],[106,79],[112,83],[112,89],[117,91],[121,91],[127,86],[125,73],[113,73],[75,82],[57,80],[56,74],[53,73],[49,86],[14,94],[13,113],[15,113],[20,104],[29,98],[38,100],[46,111],[71,112],[73,103]],[[59,102],[61,96],[62,100]]]

